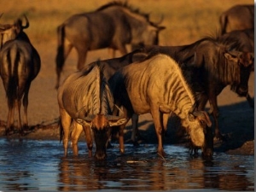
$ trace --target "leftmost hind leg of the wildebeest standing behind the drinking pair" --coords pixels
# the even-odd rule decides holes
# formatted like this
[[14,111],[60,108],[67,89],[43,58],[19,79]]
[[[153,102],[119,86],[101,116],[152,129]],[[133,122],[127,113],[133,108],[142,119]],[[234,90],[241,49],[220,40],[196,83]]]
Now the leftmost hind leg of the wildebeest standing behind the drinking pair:
[[73,48],[72,44],[65,44],[65,47],[60,46],[57,50],[57,55],[56,55],[57,79],[56,79],[55,89],[59,88],[60,80],[61,80],[61,71],[62,71],[62,68],[64,66],[64,62],[67,59],[67,55],[69,55],[72,48]]

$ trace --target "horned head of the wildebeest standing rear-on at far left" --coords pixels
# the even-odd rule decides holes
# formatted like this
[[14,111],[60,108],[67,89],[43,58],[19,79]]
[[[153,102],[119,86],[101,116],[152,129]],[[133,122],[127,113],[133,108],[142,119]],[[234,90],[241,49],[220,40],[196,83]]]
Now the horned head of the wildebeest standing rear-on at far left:
[[0,24],[0,34],[2,36],[0,39],[1,47],[5,42],[17,38],[23,32],[23,29],[29,27],[29,21],[26,15],[24,15],[24,18],[26,20],[25,26],[22,26],[21,18],[15,20],[14,24]]

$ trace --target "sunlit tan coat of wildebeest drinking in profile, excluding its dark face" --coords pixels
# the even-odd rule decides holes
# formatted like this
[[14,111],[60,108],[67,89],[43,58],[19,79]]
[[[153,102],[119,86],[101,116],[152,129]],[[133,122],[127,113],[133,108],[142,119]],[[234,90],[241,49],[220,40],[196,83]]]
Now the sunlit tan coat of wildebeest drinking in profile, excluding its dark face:
[[[183,127],[189,131],[195,146],[202,147],[205,143],[204,126],[200,124],[199,119],[189,121],[189,111],[195,104],[194,95],[183,78],[181,69],[171,57],[154,55],[145,61],[123,67],[109,82],[114,84],[115,98],[118,97],[116,95],[118,91],[124,91],[119,90],[119,87],[125,87],[134,113],[152,114],[160,154],[164,154],[160,137],[162,131],[160,116],[163,113],[173,112],[182,119]],[[121,100],[123,101],[120,102],[124,102],[123,97]]]

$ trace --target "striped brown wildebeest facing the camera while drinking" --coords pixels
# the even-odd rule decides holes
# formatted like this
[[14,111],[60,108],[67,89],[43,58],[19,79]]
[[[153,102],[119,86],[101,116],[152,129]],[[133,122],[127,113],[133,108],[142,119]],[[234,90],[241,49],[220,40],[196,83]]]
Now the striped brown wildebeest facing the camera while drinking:
[[[112,126],[122,125],[126,119],[113,116],[113,96],[108,81],[97,63],[72,73],[58,89],[58,103],[61,116],[60,133],[63,137],[64,155],[67,156],[69,127],[73,122],[73,154],[78,155],[78,139],[84,130],[89,156],[92,156],[93,131],[96,143],[96,159],[105,159],[108,133]],[[122,150],[120,151],[123,152]]]

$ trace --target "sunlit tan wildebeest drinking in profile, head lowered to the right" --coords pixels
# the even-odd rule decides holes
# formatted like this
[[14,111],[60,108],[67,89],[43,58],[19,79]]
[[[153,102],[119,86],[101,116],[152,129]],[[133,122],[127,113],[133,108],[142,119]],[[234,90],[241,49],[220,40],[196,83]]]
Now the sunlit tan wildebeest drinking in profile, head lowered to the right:
[[[165,155],[162,143],[166,117],[176,113],[189,132],[195,147],[212,156],[212,125],[204,111],[196,110],[193,92],[176,61],[168,55],[154,55],[145,61],[120,68],[109,80],[115,103],[124,107],[125,117],[151,113],[158,138],[158,153]],[[165,122],[165,123],[163,123]],[[125,125],[120,126],[122,131]],[[206,135],[207,138],[206,139]],[[120,136],[119,136],[120,137]]]

